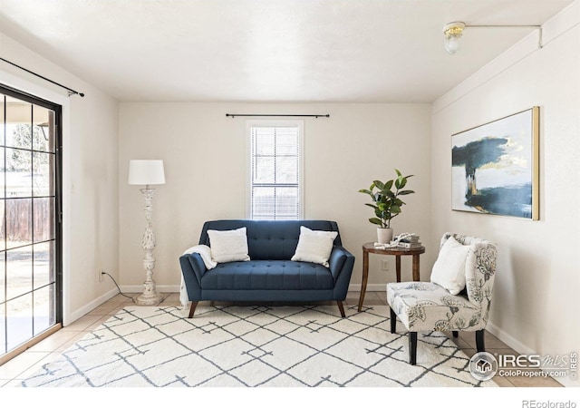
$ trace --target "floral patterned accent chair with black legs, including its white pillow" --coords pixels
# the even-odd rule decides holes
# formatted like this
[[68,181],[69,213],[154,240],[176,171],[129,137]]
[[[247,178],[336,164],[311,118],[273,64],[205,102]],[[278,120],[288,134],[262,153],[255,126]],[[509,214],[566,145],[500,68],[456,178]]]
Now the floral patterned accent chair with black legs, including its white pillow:
[[430,282],[387,284],[391,333],[397,318],[409,330],[409,360],[417,362],[417,332],[475,332],[478,352],[485,351],[498,247],[482,238],[445,233]]

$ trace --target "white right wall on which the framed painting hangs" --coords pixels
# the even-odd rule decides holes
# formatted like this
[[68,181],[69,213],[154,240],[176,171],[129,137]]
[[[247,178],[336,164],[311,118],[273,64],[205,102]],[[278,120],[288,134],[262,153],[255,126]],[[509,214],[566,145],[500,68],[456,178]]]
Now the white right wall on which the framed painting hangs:
[[[488,328],[520,353],[578,351],[580,325],[580,6],[433,104],[430,246],[459,231],[498,242]],[[451,135],[540,107],[540,219],[451,211]]]

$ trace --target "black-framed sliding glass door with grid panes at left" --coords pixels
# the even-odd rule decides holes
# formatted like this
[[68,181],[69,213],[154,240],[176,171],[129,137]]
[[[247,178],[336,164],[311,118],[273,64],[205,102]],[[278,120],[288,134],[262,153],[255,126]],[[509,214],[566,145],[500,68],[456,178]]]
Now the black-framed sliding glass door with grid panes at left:
[[0,362],[62,321],[60,121],[0,86]]

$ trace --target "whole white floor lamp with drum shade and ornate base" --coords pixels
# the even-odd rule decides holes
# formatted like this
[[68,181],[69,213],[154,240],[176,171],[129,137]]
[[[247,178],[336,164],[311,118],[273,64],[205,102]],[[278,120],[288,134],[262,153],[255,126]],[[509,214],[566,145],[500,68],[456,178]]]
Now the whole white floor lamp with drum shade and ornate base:
[[153,268],[155,267],[153,249],[155,249],[156,242],[151,222],[153,211],[151,200],[155,189],[150,189],[150,185],[165,184],[163,160],[131,160],[129,162],[129,184],[145,186],[144,189],[140,189],[145,199],[145,234],[141,240],[141,248],[145,251],[143,258],[143,267],[145,267],[146,272],[143,284],[145,290],[142,294],[134,296],[133,300],[137,305],[159,305],[163,296],[157,291],[153,280]]

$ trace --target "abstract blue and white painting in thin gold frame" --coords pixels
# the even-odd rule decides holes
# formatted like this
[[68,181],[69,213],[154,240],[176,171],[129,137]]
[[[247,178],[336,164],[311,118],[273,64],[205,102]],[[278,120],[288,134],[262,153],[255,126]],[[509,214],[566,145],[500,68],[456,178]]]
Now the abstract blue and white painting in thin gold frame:
[[452,209],[538,219],[534,107],[452,136]]

